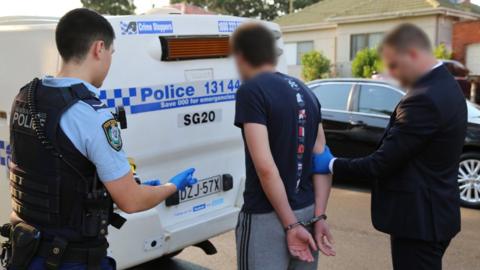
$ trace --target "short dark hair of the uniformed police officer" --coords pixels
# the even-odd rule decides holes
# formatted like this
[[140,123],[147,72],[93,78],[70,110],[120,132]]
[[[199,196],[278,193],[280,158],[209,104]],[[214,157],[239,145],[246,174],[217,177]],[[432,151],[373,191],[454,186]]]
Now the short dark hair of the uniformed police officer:
[[112,25],[105,17],[87,8],[69,11],[60,19],[55,32],[58,51],[66,62],[83,60],[96,40],[103,40],[108,49],[114,39]]

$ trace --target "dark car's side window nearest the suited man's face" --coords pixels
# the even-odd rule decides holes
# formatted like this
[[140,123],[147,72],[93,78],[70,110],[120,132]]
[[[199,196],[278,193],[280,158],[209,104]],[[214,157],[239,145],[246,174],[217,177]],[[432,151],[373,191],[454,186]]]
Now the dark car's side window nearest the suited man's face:
[[358,111],[390,116],[402,94],[384,86],[364,84],[360,87]]

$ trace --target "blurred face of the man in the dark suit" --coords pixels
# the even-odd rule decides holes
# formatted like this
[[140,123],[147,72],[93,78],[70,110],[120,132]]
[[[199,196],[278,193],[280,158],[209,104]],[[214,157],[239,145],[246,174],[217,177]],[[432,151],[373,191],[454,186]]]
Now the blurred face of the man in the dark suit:
[[423,70],[419,68],[420,53],[416,48],[398,51],[391,46],[385,46],[382,49],[382,60],[391,77],[403,87],[410,87],[423,75]]

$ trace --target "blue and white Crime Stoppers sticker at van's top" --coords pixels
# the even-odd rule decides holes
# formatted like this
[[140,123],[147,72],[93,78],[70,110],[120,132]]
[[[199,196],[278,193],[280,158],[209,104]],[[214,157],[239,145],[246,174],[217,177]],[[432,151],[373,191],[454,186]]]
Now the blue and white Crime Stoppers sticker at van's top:
[[149,35],[173,33],[172,21],[121,21],[122,35]]

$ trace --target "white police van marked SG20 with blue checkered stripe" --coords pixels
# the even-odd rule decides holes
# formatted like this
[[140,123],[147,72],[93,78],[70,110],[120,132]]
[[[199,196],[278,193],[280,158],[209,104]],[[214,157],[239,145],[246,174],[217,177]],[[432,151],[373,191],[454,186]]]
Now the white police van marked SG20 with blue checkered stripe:
[[[33,77],[56,74],[60,65],[57,18],[0,18],[0,223],[10,214],[7,164],[14,96]],[[242,204],[244,153],[233,126],[240,85],[228,38],[243,18],[217,15],[109,17],[116,32],[112,68],[100,98],[124,106],[125,151],[143,181],[169,179],[194,167],[198,186],[154,209],[124,214],[110,230],[109,254],[127,268],[175,253],[234,228]],[[280,29],[265,23],[283,48]],[[285,71],[280,59],[280,71]],[[233,245],[234,243],[232,243]]]

